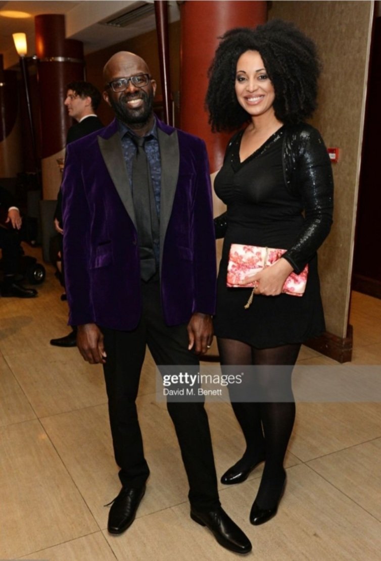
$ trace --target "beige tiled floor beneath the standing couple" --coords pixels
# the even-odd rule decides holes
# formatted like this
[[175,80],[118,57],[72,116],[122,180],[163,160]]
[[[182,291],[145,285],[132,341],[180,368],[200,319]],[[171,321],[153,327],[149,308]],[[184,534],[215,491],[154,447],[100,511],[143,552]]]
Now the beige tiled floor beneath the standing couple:
[[[38,250],[34,250],[38,251]],[[30,250],[29,250],[30,252]],[[146,358],[139,411],[152,475],[134,525],[107,533],[119,490],[102,369],[49,339],[67,332],[61,288],[48,277],[35,300],[0,300],[0,559],[204,561],[233,559],[189,518],[187,483],[165,405]],[[381,300],[354,293],[355,365],[381,364]],[[302,348],[299,364],[332,361]],[[242,453],[227,403],[209,403],[218,475]],[[221,485],[223,506],[258,561],[375,561],[381,551],[381,403],[299,403],[278,515],[248,514],[261,467]]]

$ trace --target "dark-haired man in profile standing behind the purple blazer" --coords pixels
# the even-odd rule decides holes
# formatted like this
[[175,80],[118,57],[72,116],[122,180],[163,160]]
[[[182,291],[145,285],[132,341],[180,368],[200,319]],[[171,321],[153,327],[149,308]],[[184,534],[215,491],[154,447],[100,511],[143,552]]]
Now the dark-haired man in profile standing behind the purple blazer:
[[[75,125],[69,128],[66,137],[66,146],[70,144],[70,142],[74,142],[82,138],[82,136],[86,136],[90,134],[90,132],[94,132],[99,130],[99,128],[103,127],[103,123],[95,114],[95,111],[98,109],[98,105],[102,99],[100,92],[90,84],[90,82],[84,81],[76,81],[70,82],[66,86],[66,98],[63,104],[67,107],[67,112],[70,117],[75,119],[77,122]],[[59,189],[58,197],[57,197],[57,206],[56,211],[54,213],[54,226],[59,234],[59,250],[58,256],[60,259],[60,282],[62,286],[65,288],[65,280],[64,280],[64,268],[65,264],[62,260],[62,234],[63,234],[63,225],[62,225],[62,194],[61,189]],[[61,296],[61,300],[66,300],[66,294]],[[68,335],[64,337],[59,337],[58,339],[51,339],[51,345],[56,347],[75,347],[76,346],[76,338],[77,338],[77,328],[76,326],[72,327],[72,330]]]

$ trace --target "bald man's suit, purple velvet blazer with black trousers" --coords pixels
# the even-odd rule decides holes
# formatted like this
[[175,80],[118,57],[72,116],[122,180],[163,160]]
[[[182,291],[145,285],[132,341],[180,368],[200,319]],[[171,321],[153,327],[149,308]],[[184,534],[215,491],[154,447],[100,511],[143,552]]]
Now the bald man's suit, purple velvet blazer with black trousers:
[[[158,121],[162,167],[160,275],[140,278],[131,186],[114,120],[67,147],[62,184],[69,323],[97,324],[116,461],[123,485],[149,474],[135,407],[148,343],[157,364],[198,364],[187,350],[194,312],[214,313],[215,242],[204,142]],[[152,337],[153,333],[164,333]],[[171,333],[174,333],[173,342]],[[127,402],[127,403],[126,403]],[[190,502],[219,506],[203,403],[168,403],[190,482]]]

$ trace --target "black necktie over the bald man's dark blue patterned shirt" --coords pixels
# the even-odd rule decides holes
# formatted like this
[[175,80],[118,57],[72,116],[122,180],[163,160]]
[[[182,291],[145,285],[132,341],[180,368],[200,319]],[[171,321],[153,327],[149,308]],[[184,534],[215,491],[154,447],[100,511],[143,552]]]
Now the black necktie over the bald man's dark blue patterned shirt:
[[132,163],[132,194],[140,247],[140,276],[147,281],[156,272],[153,236],[158,235],[158,215],[149,165],[144,150],[147,137],[134,136],[136,155]]

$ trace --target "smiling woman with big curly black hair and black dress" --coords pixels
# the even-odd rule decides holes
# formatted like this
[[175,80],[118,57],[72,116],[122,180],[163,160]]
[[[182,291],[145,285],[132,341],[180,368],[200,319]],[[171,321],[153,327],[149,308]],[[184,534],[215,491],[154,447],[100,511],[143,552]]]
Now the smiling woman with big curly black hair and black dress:
[[[316,250],[332,224],[332,170],[322,137],[305,122],[316,108],[319,71],[315,44],[280,20],[227,31],[209,69],[212,130],[240,129],[214,182],[227,205],[215,219],[224,245],[214,330],[222,369],[244,373],[229,390],[246,450],[221,481],[240,483],[265,462],[250,512],[254,525],[277,513],[286,485],[293,365],[301,343],[325,329]],[[253,289],[228,288],[232,243],[286,252],[246,279]],[[306,265],[304,295],[282,293],[288,275]]]

